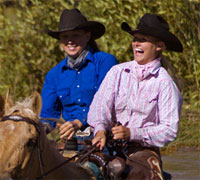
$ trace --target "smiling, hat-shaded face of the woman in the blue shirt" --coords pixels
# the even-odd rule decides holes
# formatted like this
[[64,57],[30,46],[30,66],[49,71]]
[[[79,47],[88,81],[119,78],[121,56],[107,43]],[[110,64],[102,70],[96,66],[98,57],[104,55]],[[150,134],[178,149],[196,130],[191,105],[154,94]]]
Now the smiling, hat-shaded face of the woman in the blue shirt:
[[60,33],[62,49],[72,58],[77,58],[87,47],[91,33],[84,30],[72,30]]

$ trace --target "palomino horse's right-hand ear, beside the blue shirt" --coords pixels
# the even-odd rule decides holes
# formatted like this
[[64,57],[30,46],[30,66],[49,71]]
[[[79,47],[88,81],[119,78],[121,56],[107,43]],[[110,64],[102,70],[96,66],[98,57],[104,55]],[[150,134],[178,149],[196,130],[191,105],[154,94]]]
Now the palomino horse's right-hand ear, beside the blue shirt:
[[41,108],[42,108],[42,98],[37,91],[34,91],[32,99],[32,110],[35,114],[39,116]]

